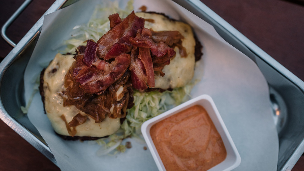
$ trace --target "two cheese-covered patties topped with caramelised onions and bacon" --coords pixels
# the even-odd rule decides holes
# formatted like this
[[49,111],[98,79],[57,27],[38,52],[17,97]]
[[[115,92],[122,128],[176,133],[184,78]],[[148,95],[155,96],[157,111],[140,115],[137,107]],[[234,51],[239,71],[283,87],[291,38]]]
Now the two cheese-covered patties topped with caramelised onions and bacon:
[[68,140],[115,133],[133,90],[164,91],[188,84],[201,44],[191,26],[155,12],[109,16],[110,30],[76,54],[57,54],[40,75],[40,94],[55,132]]

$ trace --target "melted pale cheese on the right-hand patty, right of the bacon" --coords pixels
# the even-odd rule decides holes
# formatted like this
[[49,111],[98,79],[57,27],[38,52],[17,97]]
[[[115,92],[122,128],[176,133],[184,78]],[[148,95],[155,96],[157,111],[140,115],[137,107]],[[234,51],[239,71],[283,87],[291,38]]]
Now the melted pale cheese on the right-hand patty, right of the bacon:
[[[175,47],[176,55],[163,69],[164,77],[155,74],[155,88],[168,89],[182,87],[192,80],[195,66],[195,39],[192,28],[183,22],[173,21],[161,14],[155,13],[136,13],[136,16],[144,19],[145,27],[153,31],[174,31],[177,30],[184,36],[182,46],[186,48],[187,56],[181,57],[179,48]],[[152,22],[151,22],[152,21]]]

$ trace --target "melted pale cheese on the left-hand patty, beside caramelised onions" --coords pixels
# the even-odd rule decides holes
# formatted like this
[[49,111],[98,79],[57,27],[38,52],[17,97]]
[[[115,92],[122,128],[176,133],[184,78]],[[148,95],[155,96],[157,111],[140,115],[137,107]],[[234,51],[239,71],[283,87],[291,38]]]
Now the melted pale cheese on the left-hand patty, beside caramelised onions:
[[[75,61],[74,55],[57,54],[54,60],[46,68],[43,75],[43,90],[45,93],[45,110],[54,130],[61,135],[69,136],[65,122],[60,118],[64,115],[67,123],[73,117],[80,113],[84,116],[84,112],[79,111],[74,105],[63,106],[63,97],[61,96],[64,87],[64,76],[68,69]],[[120,119],[111,119],[106,117],[101,123],[95,123],[95,119],[87,117],[84,124],[76,127],[76,136],[104,137],[115,133],[120,127]]]

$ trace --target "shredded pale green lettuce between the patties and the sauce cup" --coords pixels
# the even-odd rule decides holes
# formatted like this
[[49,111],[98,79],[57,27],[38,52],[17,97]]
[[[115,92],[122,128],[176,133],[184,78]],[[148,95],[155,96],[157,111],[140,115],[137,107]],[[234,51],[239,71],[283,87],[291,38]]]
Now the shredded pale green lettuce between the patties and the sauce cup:
[[124,131],[124,138],[138,136],[140,127],[146,120],[149,120],[165,111],[177,106],[190,98],[192,84],[185,87],[175,88],[165,92],[139,92],[135,91],[134,106],[127,110],[126,120],[121,125]]

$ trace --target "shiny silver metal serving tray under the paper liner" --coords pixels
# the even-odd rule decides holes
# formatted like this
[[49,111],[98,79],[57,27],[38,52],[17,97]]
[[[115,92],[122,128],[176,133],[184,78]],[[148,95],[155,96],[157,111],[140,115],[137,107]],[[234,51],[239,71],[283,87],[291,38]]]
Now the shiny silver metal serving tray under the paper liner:
[[[277,170],[291,170],[304,152],[304,125],[301,122],[301,120],[304,120],[304,82],[199,0],[174,1],[213,25],[223,39],[247,55],[260,68],[270,88],[269,96],[279,135]],[[75,0],[57,0],[45,14],[54,12],[73,2]],[[43,17],[37,21],[0,63],[0,118],[56,164],[56,160],[47,144],[28,117],[20,110],[20,106],[25,104],[24,70],[36,45],[42,23]],[[7,39],[5,34],[2,34],[2,36]]]

